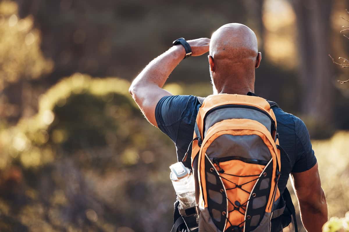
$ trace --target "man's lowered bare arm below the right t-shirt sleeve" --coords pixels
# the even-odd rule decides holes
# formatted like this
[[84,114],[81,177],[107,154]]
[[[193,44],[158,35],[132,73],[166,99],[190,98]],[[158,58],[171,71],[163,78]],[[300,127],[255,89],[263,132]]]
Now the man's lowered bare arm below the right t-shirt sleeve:
[[321,232],[327,222],[327,203],[321,188],[318,163],[307,171],[292,173],[291,176],[305,229],[308,232]]

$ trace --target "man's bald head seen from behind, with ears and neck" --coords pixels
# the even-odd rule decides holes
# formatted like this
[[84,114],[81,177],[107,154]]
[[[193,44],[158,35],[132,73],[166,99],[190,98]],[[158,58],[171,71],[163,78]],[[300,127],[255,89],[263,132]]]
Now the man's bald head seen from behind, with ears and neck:
[[229,23],[218,28],[211,37],[209,54],[214,90],[218,93],[222,88],[254,91],[254,70],[260,59],[257,37],[249,27]]

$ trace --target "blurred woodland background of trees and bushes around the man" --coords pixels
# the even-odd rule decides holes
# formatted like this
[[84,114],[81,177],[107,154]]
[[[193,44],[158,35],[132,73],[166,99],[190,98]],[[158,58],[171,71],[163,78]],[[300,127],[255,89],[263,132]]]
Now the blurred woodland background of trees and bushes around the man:
[[[170,231],[172,141],[128,87],[173,40],[246,24],[262,52],[256,93],[305,121],[329,216],[349,210],[348,0],[0,1],[0,231]],[[171,74],[207,96],[207,56]],[[289,188],[291,188],[289,186]],[[294,198],[294,202],[296,200]],[[300,219],[298,218],[300,224]]]

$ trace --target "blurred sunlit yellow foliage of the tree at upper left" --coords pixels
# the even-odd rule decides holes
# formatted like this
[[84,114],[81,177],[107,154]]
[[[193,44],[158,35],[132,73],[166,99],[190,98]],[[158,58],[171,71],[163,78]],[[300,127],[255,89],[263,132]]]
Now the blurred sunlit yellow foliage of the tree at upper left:
[[18,18],[14,2],[0,2],[0,91],[20,78],[38,79],[53,69],[40,50],[40,32],[33,23],[30,16]]

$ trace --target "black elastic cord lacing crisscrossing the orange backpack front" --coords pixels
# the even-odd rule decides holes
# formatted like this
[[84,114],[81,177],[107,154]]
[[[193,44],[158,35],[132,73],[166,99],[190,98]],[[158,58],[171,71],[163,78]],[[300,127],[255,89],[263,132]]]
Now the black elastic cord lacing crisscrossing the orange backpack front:
[[[226,181],[229,181],[230,183],[235,184],[235,187],[232,187],[232,188],[230,188],[230,189],[225,189],[225,190],[227,190],[227,191],[228,191],[228,190],[232,190],[232,189],[241,189],[241,190],[243,190],[244,192],[246,192],[246,193],[248,193],[248,194],[251,194],[251,192],[248,192],[247,190],[243,189],[242,186],[245,185],[245,184],[251,183],[252,181],[256,181],[256,180],[258,180],[258,179],[260,178],[259,175],[239,176],[239,175],[233,175],[233,174],[225,173],[224,169],[221,168],[221,166],[219,165],[219,162],[218,162],[218,161],[214,161],[214,163],[217,165],[217,167],[218,167],[218,173],[220,173],[221,175],[220,175],[220,174],[217,174],[216,172],[213,172],[213,173],[216,174],[216,175],[218,175],[218,176],[221,177],[222,179],[225,179]],[[243,184],[238,185],[238,184],[236,184],[236,183],[230,181],[229,179],[223,177],[222,174],[229,175],[229,176],[236,176],[236,177],[253,177],[253,176],[258,176],[258,177],[255,178],[255,179],[253,179],[253,180],[251,180],[251,181],[248,181],[248,182],[246,182],[246,183],[243,183]],[[227,200],[229,201],[229,203],[231,203],[231,205],[233,205],[233,207],[234,207],[232,210],[228,211],[228,213],[230,213],[230,212],[232,212],[232,211],[238,211],[240,214],[245,215],[246,208],[244,208],[244,207],[247,207],[247,202],[250,201],[251,198],[249,198],[249,199],[248,199],[247,201],[245,201],[244,203],[240,203],[239,201],[235,201],[235,202],[233,203],[226,195],[225,195],[225,198],[227,198]],[[242,211],[240,211],[240,209],[242,209],[242,210],[244,210],[244,211],[242,212]],[[229,224],[230,224],[231,226],[234,227],[234,228],[232,229],[232,231],[237,232],[237,231],[236,231],[236,229],[237,229],[236,227],[238,227],[238,230],[239,230],[239,231],[242,231],[242,230],[243,230],[243,226],[240,226],[240,225],[242,225],[243,223],[245,223],[245,222],[246,222],[246,219],[245,219],[245,221],[243,221],[242,223],[240,223],[240,224],[238,224],[238,225],[233,225],[233,224],[229,221],[228,215],[226,215],[225,217],[227,218]]]

